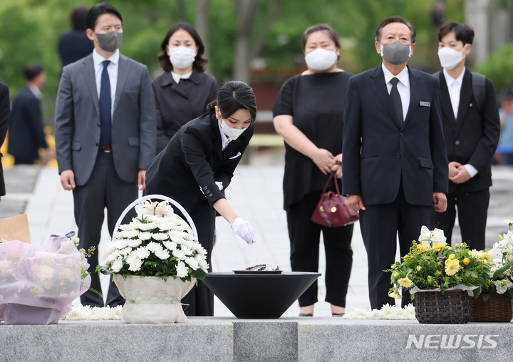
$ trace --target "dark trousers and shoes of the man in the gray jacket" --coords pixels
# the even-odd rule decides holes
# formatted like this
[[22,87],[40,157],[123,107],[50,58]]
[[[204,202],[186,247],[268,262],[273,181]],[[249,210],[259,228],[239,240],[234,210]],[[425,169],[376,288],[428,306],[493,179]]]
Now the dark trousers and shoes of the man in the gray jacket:
[[[107,224],[110,237],[112,238],[113,229],[125,207],[130,205],[138,197],[137,182],[125,182],[118,177],[114,169],[112,153],[98,152],[93,173],[90,179],[83,186],[77,186],[73,190],[73,200],[75,204],[75,221],[78,225],[78,237],[80,238],[80,247],[88,249],[96,247],[96,251],[88,258],[91,276],[91,288],[101,292],[100,276],[95,273],[98,265],[98,244],[100,243],[101,228],[107,208]],[[129,222],[135,217],[135,211],[129,212],[125,217],[125,222]],[[83,305],[103,307],[103,297],[93,291],[86,291],[81,295]],[[125,299],[120,296],[118,287],[115,286],[112,278],[107,294],[105,305],[118,306],[125,304]]]

